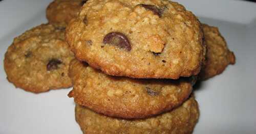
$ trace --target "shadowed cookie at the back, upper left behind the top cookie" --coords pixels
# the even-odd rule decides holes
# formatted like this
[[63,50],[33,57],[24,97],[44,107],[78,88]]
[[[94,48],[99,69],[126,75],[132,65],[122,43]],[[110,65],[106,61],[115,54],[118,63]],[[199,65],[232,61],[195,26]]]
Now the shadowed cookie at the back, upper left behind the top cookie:
[[87,0],[55,0],[46,9],[46,17],[52,24],[66,27],[69,21],[77,17],[80,8]]

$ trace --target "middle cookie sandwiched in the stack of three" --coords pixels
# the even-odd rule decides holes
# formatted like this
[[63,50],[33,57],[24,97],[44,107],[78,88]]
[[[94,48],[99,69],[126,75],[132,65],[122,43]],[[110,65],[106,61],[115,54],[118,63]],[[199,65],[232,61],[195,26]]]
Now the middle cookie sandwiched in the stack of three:
[[69,76],[75,102],[104,115],[145,118],[171,110],[191,93],[193,78],[133,79],[110,76],[77,60],[71,61]]

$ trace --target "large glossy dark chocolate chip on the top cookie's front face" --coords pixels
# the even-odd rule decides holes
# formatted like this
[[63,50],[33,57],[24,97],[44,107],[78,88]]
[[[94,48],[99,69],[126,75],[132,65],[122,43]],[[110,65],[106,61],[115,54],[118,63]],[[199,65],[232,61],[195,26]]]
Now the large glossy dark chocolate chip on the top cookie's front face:
[[119,32],[112,32],[105,35],[102,42],[104,44],[111,44],[120,48],[125,48],[128,51],[132,49],[128,38],[124,34]]

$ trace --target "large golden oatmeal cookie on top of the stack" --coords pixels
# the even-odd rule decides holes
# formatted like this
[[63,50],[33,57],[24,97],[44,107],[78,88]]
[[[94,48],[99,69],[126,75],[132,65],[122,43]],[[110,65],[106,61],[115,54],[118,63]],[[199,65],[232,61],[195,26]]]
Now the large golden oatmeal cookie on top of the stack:
[[200,22],[169,1],[88,1],[66,39],[78,60],[116,76],[178,79],[204,59]]

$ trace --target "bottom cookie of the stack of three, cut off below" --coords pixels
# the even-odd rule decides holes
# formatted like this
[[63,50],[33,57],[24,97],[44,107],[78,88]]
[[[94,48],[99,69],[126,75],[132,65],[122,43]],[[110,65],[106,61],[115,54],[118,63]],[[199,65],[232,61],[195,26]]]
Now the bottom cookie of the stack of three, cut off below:
[[76,105],[75,116],[83,133],[192,133],[199,109],[190,97],[177,109],[146,119],[112,118],[80,105]]

